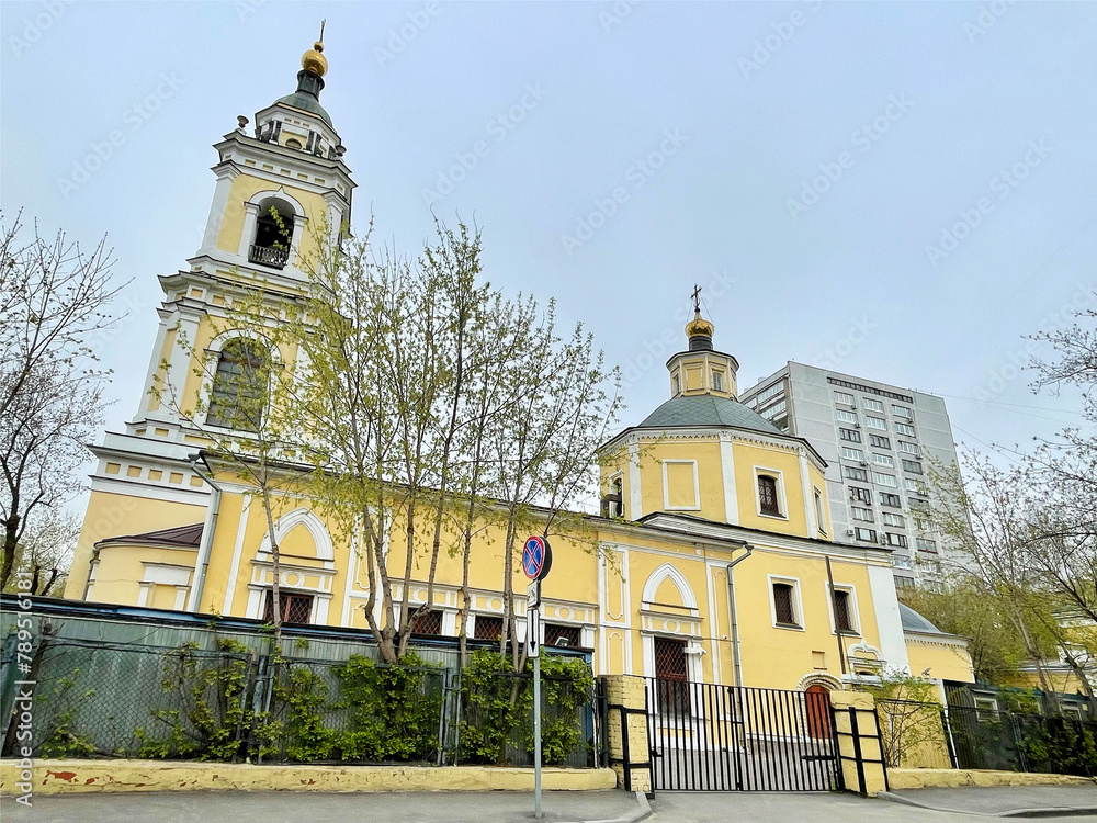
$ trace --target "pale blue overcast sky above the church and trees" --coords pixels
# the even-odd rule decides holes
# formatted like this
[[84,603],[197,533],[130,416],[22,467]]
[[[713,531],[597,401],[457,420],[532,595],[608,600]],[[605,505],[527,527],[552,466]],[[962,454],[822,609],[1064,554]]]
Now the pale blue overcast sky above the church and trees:
[[[1097,302],[1097,4],[4,2],[3,210],[110,233],[134,279],[103,352],[112,427],[137,407],[156,275],[197,248],[211,144],[295,88],[321,18],[358,229],[372,210],[414,250],[425,191],[463,177],[434,211],[483,226],[494,282],[595,330],[630,377],[625,424],[668,395],[659,338],[683,339],[694,282],[717,284],[740,387],[833,358],[945,395],[968,442],[1079,420],[1010,361]],[[942,248],[961,213],[977,225]]]

